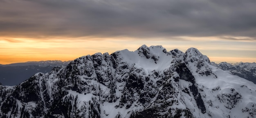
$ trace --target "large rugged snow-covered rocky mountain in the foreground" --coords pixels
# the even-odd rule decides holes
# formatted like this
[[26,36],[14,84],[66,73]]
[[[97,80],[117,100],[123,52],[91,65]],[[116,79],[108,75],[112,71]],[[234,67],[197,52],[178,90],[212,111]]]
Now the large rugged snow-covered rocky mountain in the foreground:
[[143,45],[0,85],[0,102],[1,118],[255,118],[256,86],[195,48]]

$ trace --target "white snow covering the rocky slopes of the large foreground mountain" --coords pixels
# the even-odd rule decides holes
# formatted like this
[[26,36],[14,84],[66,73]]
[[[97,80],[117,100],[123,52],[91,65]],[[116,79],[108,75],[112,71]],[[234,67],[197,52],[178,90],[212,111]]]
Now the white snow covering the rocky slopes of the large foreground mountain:
[[[175,102],[172,106],[168,106],[167,108],[189,109],[192,112],[193,116],[195,116],[196,118],[228,118],[229,115],[230,118],[245,118],[245,116],[249,115],[249,112],[255,112],[251,109],[256,108],[256,85],[253,82],[250,82],[238,76],[231,75],[229,71],[223,71],[221,69],[218,69],[217,67],[213,67],[209,63],[209,58],[202,55],[197,49],[188,49],[186,53],[182,53],[183,56],[181,56],[181,58],[177,59],[173,58],[170,53],[165,53],[163,51],[164,48],[161,46],[146,47],[146,45],[144,45],[142,46],[142,48],[145,48],[145,50],[147,51],[146,56],[144,55],[144,53],[141,53],[140,50],[128,51],[126,49],[122,51],[117,51],[119,53],[119,56],[117,57],[119,65],[117,66],[128,66],[128,69],[121,69],[120,73],[117,73],[117,69],[114,69],[110,62],[108,62],[107,60],[102,59],[101,65],[98,68],[95,67],[97,68],[97,70],[94,70],[95,68],[93,61],[91,60],[91,56],[83,56],[81,58],[78,58],[78,61],[80,62],[79,64],[77,64],[77,67],[82,75],[76,75],[76,77],[80,79],[80,82],[84,82],[86,86],[96,87],[96,90],[88,88],[86,89],[87,91],[85,91],[85,93],[83,94],[80,94],[77,91],[68,90],[68,94],[63,97],[63,100],[65,97],[68,96],[77,96],[77,109],[81,109],[84,108],[84,105],[86,105],[87,102],[91,101],[92,98],[95,98],[100,103],[101,118],[115,118],[117,114],[121,114],[122,118],[128,118],[132,111],[141,111],[149,109],[151,107],[156,107],[158,103],[157,97],[159,96],[159,94],[161,94],[161,91],[165,89],[164,84],[171,83],[171,85],[173,85],[172,89],[175,92],[173,94],[167,93],[172,96],[170,96],[170,98],[164,99],[163,101]],[[94,54],[94,56],[99,56],[97,58],[101,59],[105,58],[105,56],[109,56],[109,54],[96,53]],[[86,60],[86,58],[90,59]],[[199,109],[197,106],[195,97],[190,90],[190,86],[192,85],[192,83],[181,79],[179,80],[179,82],[175,82],[173,80],[173,78],[179,77],[179,73],[175,71],[175,66],[177,64],[175,62],[172,63],[172,61],[175,60],[179,60],[180,62],[186,64],[192,75],[195,77],[195,86],[198,87],[198,92],[200,93],[204,102],[206,113],[201,113],[201,109]],[[200,68],[197,67],[197,65],[200,64],[199,62],[201,62],[203,65]],[[245,65],[247,66],[247,64]],[[85,69],[92,70],[92,75],[90,77],[88,76],[89,74],[87,75],[85,73]],[[199,74],[199,72],[204,72],[207,70],[211,70],[210,75]],[[38,77],[39,79],[37,78],[38,80],[35,80],[35,82],[38,82],[40,88],[42,88],[43,80],[46,81],[46,87],[49,91],[48,94],[50,95],[51,100],[54,99],[52,98],[52,94],[54,94],[55,92],[56,83],[63,79],[57,76],[58,73],[61,73],[62,71],[66,71],[65,67],[62,67],[58,72],[52,71],[50,73],[43,74],[43,76]],[[96,72],[107,81],[105,81],[104,83],[98,82]],[[157,76],[154,75],[155,72],[157,72]],[[164,75],[164,72],[170,72],[168,74],[171,75],[166,76]],[[119,105],[124,89],[127,89],[125,87],[126,80],[129,78],[130,73],[135,74],[139,79],[143,80],[145,88],[152,85],[152,88],[149,88],[150,91],[142,89],[140,90],[141,93],[155,92],[155,94],[152,98],[150,98],[150,102],[143,106],[142,103],[138,102],[140,94],[137,92],[133,93],[131,97],[134,98],[134,101],[129,101],[131,103],[131,106],[126,109],[126,105],[128,103],[125,103],[125,105],[122,107],[119,107]],[[39,73],[35,76],[39,76]],[[146,80],[145,78],[149,78],[149,80]],[[111,79],[115,81],[110,82]],[[67,82],[68,80],[64,81]],[[158,81],[162,81],[164,83],[159,84],[157,83]],[[149,85],[146,82],[152,83],[150,83]],[[99,100],[102,96],[105,97],[104,99],[107,99],[107,97],[110,96],[110,84],[115,84],[116,89],[114,95],[117,100],[115,102],[103,102]],[[159,86],[157,86],[157,84]],[[72,87],[72,85],[67,85],[65,87]],[[10,91],[13,88],[14,87],[5,86],[4,89],[6,91]],[[188,89],[189,91],[183,92],[182,90],[184,89]],[[43,92],[44,90],[40,89],[41,99],[43,100],[42,102],[48,102],[44,101]],[[95,95],[95,93],[100,94],[100,96]],[[234,97],[234,99],[237,99],[237,101],[227,96]],[[25,103],[20,100],[16,101],[19,109],[22,106],[26,106],[27,110],[32,110],[35,109],[37,106],[36,102]],[[231,108],[227,108],[230,106]],[[250,109],[251,111],[243,112],[242,109],[246,108]],[[182,114],[184,115],[184,113]],[[61,117],[61,115],[57,114],[55,114],[55,116]],[[181,118],[185,117],[181,116]]]

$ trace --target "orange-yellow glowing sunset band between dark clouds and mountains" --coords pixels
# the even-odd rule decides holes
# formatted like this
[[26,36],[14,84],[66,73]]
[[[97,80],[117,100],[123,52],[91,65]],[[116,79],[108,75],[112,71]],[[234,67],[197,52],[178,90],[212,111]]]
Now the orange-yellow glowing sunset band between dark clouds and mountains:
[[[26,61],[40,60],[74,60],[80,56],[92,55],[94,53],[113,53],[122,49],[135,51],[143,44],[162,45],[167,50],[180,49],[186,51],[189,47],[198,48],[213,62],[255,62],[255,42],[240,42],[237,45],[223,45],[219,40],[139,40],[139,39],[104,39],[81,40],[81,39],[54,39],[35,40],[29,38],[2,38],[0,40],[0,62],[10,64]],[[7,40],[9,39],[9,40]],[[198,38],[200,39],[200,38]],[[234,43],[226,41],[225,43]],[[240,45],[244,44],[244,45]],[[238,51],[239,50],[239,51]],[[245,52],[245,53],[243,53]]]

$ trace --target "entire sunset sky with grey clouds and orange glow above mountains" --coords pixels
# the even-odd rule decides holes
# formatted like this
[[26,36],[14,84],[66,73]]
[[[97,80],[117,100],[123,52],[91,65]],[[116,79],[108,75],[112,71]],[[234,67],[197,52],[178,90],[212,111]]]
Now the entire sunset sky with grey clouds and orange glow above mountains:
[[0,0],[0,64],[141,45],[256,62],[256,0]]

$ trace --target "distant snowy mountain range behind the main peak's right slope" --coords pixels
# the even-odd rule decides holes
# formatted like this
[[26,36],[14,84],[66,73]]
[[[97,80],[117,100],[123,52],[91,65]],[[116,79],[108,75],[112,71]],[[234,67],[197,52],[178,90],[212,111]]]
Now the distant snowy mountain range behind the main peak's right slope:
[[219,64],[216,64],[215,62],[211,62],[211,65],[225,71],[230,71],[232,75],[245,78],[249,81],[254,82],[254,84],[256,84],[256,63],[255,62],[253,63],[239,62],[235,64],[230,64],[227,62],[221,62]]

